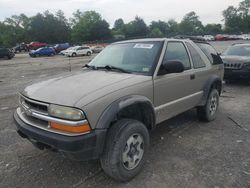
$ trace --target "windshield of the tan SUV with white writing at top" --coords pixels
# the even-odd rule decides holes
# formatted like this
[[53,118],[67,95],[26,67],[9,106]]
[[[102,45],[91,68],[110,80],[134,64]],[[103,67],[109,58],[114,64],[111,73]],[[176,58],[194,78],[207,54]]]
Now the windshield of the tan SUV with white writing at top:
[[89,65],[111,66],[128,72],[150,74],[163,42],[121,43],[106,47]]

